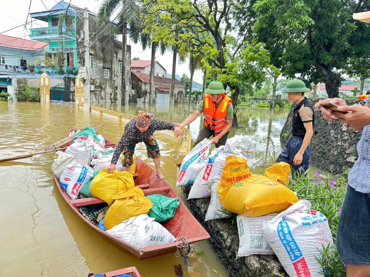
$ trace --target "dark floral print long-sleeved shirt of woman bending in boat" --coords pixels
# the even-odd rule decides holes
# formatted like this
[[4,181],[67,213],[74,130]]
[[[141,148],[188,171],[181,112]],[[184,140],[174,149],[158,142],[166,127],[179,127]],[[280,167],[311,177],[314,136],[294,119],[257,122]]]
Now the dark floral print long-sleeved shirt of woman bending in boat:
[[120,142],[118,142],[111,163],[114,164],[117,163],[118,158],[120,158],[122,151],[125,149],[129,142],[131,141],[133,141],[134,143],[143,142],[146,141],[155,131],[172,130],[175,127],[176,125],[173,123],[151,118],[148,130],[145,132],[140,132],[138,128],[136,128],[136,118],[131,119],[125,126],[125,132],[122,135]]

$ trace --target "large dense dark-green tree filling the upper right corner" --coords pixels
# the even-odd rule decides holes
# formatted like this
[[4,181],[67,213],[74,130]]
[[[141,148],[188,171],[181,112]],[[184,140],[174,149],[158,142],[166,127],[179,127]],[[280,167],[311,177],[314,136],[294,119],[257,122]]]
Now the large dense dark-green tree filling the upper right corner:
[[308,86],[325,82],[328,96],[336,97],[343,80],[341,70],[348,66],[353,53],[365,50],[366,44],[360,44],[359,40],[365,43],[370,40],[369,28],[360,27],[364,23],[352,19],[352,14],[366,9],[368,2],[246,0],[243,3],[245,7],[254,4],[255,33],[269,37],[278,50],[284,50],[283,75],[295,78],[300,73]]

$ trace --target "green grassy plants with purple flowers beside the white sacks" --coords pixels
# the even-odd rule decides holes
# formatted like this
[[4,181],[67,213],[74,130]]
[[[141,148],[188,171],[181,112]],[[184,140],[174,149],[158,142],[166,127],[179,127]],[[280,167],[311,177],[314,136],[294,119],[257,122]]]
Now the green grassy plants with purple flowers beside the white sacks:
[[299,199],[309,200],[312,204],[311,209],[318,210],[327,217],[334,240],[333,245],[320,250],[322,257],[317,257],[317,260],[324,268],[326,276],[345,277],[345,269],[336,250],[335,238],[340,216],[339,209],[343,205],[344,195],[346,194],[348,173],[344,172],[335,182],[330,180],[330,176],[327,179],[320,177],[315,182],[309,179],[308,172],[303,173],[303,170],[297,173],[292,172],[292,182],[288,187],[297,192]]

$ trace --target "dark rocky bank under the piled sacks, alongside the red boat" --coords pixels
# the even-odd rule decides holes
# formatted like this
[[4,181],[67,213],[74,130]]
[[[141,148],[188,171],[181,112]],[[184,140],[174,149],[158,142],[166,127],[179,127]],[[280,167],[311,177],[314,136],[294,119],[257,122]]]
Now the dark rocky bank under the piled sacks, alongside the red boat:
[[[183,187],[186,197],[190,186]],[[250,255],[236,257],[239,248],[238,229],[232,228],[229,219],[217,219],[204,222],[210,198],[189,199],[189,206],[195,218],[203,224],[211,238],[209,244],[225,265],[232,277],[267,277],[288,276],[275,255]]]

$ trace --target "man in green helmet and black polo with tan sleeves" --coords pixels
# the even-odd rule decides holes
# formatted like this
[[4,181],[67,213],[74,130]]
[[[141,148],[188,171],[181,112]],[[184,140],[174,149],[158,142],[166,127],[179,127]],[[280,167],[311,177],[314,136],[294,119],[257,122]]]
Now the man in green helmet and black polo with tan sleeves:
[[305,92],[310,90],[303,81],[297,79],[289,81],[282,92],[287,93],[290,103],[296,103],[297,106],[293,110],[293,135],[276,162],[289,163],[296,171],[307,170],[310,163],[314,112],[312,105],[304,96]]

